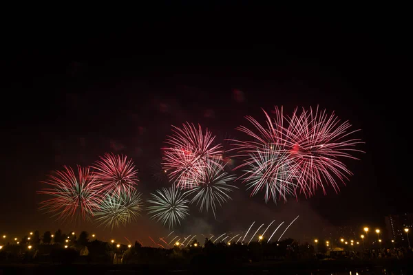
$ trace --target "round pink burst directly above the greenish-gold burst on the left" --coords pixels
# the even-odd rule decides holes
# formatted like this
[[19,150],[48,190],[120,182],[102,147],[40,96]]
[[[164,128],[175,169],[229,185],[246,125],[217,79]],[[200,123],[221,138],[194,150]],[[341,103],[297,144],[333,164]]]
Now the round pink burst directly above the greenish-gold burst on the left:
[[129,192],[135,188],[138,181],[138,171],[135,169],[132,159],[126,155],[114,155],[105,153],[100,160],[96,161],[95,169],[96,183],[103,192]]

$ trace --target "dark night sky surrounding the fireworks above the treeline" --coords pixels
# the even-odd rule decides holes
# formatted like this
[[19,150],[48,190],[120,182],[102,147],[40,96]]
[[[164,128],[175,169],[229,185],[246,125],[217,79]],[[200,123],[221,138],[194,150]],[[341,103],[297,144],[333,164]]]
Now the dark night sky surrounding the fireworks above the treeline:
[[[262,196],[249,199],[240,184],[218,221],[192,208],[181,231],[190,234],[195,225],[237,230],[253,220],[289,222],[300,214],[303,226],[291,234],[303,236],[313,234],[315,223],[383,225],[386,214],[412,211],[407,19],[385,9],[385,16],[170,9],[116,23],[27,20],[6,31],[0,232],[73,228],[37,210],[39,181],[51,170],[89,165],[105,152],[125,153],[148,196],[165,186],[153,174],[171,124],[199,122],[219,140],[242,138],[234,128],[246,124],[244,115],[264,122],[261,108],[275,105],[290,112],[319,104],[361,129],[357,137],[366,142],[360,147],[366,154],[346,162],[354,173],[347,186],[338,195],[328,188],[327,196],[275,206]],[[167,231],[147,217],[112,233],[78,228],[119,239]]]

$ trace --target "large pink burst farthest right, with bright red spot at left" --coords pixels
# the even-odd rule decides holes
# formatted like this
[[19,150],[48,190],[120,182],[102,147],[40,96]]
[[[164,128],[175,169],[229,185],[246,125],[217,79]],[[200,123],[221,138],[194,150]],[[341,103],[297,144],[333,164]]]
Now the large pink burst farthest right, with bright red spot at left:
[[351,153],[363,152],[355,148],[363,142],[349,138],[359,130],[351,131],[348,121],[341,122],[334,112],[328,114],[318,107],[301,113],[295,109],[288,122],[285,148],[300,191],[311,197],[317,188],[326,194],[325,186],[330,185],[339,192],[338,182],[346,184],[352,175],[341,159],[357,159]]

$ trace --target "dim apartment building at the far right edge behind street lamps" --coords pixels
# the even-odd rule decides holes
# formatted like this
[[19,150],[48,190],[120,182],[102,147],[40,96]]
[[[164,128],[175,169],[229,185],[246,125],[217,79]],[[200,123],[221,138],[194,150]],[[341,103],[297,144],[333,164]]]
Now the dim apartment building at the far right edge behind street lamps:
[[405,228],[410,228],[410,232],[413,230],[413,214],[388,215],[385,217],[385,227],[389,239],[396,242],[405,242],[407,240]]

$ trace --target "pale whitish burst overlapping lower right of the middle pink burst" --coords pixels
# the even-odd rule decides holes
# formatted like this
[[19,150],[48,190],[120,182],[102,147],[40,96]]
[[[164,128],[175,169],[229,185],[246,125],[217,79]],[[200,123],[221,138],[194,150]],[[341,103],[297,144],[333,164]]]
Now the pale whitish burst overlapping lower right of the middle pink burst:
[[209,163],[206,167],[198,185],[185,192],[185,195],[195,194],[191,203],[196,202],[197,206],[200,205],[200,212],[204,209],[208,211],[211,208],[213,216],[216,218],[217,204],[222,206],[228,199],[231,199],[229,192],[237,187],[229,184],[235,180],[235,177],[224,172],[221,165]]

